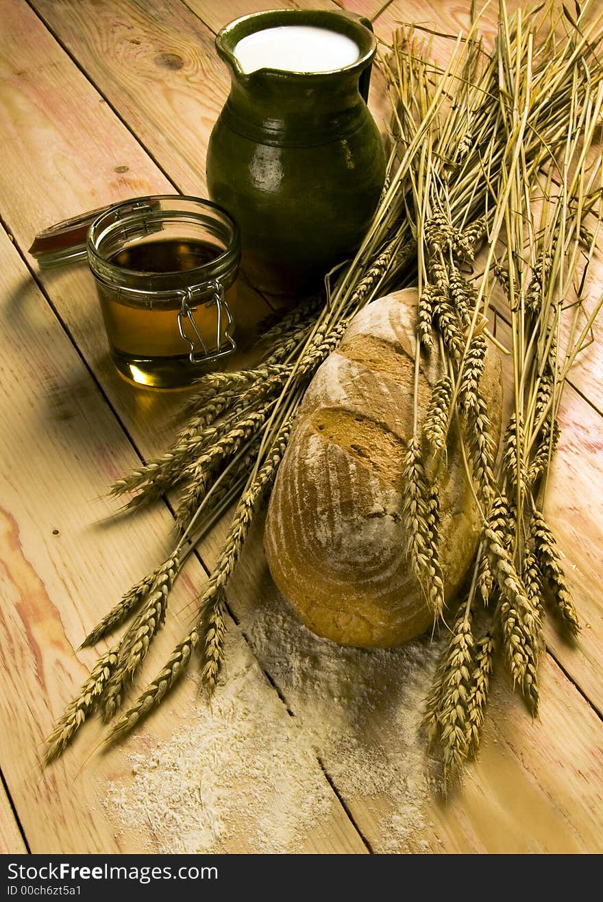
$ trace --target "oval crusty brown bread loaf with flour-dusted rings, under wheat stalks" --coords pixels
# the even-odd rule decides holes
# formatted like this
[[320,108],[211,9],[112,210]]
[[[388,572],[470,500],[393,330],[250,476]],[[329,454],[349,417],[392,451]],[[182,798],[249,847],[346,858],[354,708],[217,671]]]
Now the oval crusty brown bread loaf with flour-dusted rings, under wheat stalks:
[[[275,583],[306,625],[344,645],[393,646],[434,622],[408,565],[402,465],[413,431],[416,290],[364,308],[322,364],[301,406],[270,498],[265,548]],[[419,422],[441,376],[425,356]],[[481,390],[498,441],[500,361],[489,350]],[[438,473],[446,600],[458,592],[479,521],[458,439]]]

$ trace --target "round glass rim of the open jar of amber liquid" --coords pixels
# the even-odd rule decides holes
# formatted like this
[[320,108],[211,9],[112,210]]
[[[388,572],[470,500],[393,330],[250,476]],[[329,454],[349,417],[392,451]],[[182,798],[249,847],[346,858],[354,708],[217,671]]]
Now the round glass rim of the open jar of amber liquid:
[[[172,203],[177,202],[178,207],[174,210],[163,209],[160,207],[162,201],[171,201]],[[179,207],[182,207],[182,209]],[[132,216],[123,216],[122,218],[123,213],[127,214],[128,212],[130,212]],[[111,262],[100,252],[99,248],[102,240],[107,235],[111,226],[117,228],[120,224],[126,223],[128,219],[132,220],[140,218],[149,212],[151,212],[150,218],[155,222],[178,219],[179,213],[191,216],[192,221],[194,221],[195,218],[198,218],[199,222],[202,222],[203,214],[205,213],[206,221],[209,218],[218,221],[221,219],[222,224],[231,229],[230,242],[224,251],[218,253],[210,262],[203,263],[200,266],[187,270],[187,279],[198,280],[201,282],[206,281],[207,279],[212,278],[212,273],[215,272],[216,269],[224,268],[225,270],[230,270],[231,267],[239,262],[241,253],[241,230],[238,223],[233,219],[233,216],[231,216],[224,207],[216,204],[213,200],[196,198],[192,195],[153,194],[140,198],[123,200],[107,208],[100,216],[96,217],[95,221],[89,227],[86,237],[88,262],[92,272],[100,271],[105,278],[113,277],[116,281],[123,279],[123,277],[131,277],[132,279],[148,279],[149,277],[152,277],[153,279],[162,282],[169,281],[170,279],[173,279],[174,276],[182,275],[182,272],[178,270],[169,272],[149,272],[148,270],[130,269],[127,266]],[[117,216],[116,219],[115,216]]]

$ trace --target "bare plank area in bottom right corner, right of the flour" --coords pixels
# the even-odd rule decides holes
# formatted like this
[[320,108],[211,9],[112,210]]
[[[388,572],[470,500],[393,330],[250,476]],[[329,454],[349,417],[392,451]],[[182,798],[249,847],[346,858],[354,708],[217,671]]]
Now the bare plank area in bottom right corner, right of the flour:
[[601,723],[550,658],[541,687],[540,716],[532,721],[518,698],[509,699],[510,688],[498,685],[480,759],[447,804],[426,806],[425,832],[413,837],[418,848],[426,842],[434,851],[603,851]]

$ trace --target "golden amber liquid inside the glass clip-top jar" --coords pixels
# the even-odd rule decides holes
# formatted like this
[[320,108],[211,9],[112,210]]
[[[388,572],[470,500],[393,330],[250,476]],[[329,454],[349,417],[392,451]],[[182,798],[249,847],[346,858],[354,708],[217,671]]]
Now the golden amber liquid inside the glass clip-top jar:
[[[192,239],[166,238],[146,244],[132,244],[115,253],[110,262],[137,272],[185,272],[204,266],[223,253],[215,244]],[[180,335],[178,312],[180,302],[153,303],[152,293],[142,296],[141,302],[130,301],[127,295],[96,282],[98,297],[111,345],[114,364],[132,382],[155,388],[180,388],[189,385],[214,364],[193,364],[189,359],[190,345]],[[234,285],[226,291],[226,302],[233,310]],[[194,308],[196,327],[210,352],[215,350],[217,337],[217,307],[201,303]],[[195,345],[195,353],[203,348],[187,321],[184,332]],[[226,319],[223,317],[222,339]],[[231,329],[232,331],[232,329]],[[219,362],[217,362],[219,365]]]

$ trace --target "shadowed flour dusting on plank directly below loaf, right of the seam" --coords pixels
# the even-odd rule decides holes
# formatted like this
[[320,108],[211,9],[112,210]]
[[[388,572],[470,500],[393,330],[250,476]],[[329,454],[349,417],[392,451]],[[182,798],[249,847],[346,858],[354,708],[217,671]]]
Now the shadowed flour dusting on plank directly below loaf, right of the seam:
[[346,802],[373,808],[375,851],[425,851],[417,834],[432,826],[433,788],[419,729],[440,644],[353,649],[321,640],[276,589],[242,627],[335,787]]

